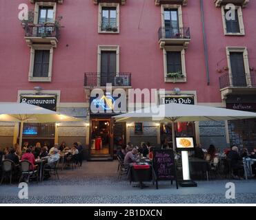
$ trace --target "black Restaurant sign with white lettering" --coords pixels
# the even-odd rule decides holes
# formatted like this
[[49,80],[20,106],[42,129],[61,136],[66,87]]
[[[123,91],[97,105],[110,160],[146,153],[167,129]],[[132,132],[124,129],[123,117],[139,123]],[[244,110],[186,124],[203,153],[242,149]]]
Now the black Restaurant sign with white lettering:
[[44,109],[57,110],[57,96],[21,96],[21,103],[34,104]]

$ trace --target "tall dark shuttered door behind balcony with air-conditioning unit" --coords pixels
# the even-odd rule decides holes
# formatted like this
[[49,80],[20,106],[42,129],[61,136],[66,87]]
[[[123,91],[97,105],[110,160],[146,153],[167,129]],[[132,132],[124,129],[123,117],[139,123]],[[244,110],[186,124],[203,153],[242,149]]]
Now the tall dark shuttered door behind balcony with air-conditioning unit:
[[101,52],[101,86],[106,83],[115,83],[117,72],[117,53],[112,51]]

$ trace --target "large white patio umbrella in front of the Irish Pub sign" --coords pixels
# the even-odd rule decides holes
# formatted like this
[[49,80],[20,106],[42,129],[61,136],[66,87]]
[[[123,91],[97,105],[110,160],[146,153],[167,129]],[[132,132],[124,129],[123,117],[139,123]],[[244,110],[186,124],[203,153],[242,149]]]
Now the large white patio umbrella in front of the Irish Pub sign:
[[113,116],[116,122],[171,122],[175,150],[175,122],[222,121],[256,118],[256,113],[206,107],[194,104],[161,104],[159,106]]

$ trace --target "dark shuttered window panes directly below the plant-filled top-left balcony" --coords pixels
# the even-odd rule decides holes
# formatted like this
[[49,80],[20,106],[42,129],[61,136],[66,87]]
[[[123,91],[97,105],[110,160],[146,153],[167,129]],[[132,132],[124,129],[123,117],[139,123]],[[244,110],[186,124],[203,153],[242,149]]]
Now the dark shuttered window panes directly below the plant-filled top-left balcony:
[[48,77],[50,50],[35,50],[33,77]]

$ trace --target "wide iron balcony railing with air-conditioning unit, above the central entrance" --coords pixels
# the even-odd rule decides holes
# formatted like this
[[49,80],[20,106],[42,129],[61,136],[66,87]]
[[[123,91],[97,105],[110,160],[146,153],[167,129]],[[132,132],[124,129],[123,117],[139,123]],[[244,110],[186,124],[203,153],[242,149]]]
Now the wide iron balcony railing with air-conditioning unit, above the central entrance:
[[130,73],[85,73],[85,87],[105,87],[107,83],[111,83],[112,86],[115,87],[130,87],[132,83],[132,75]]

